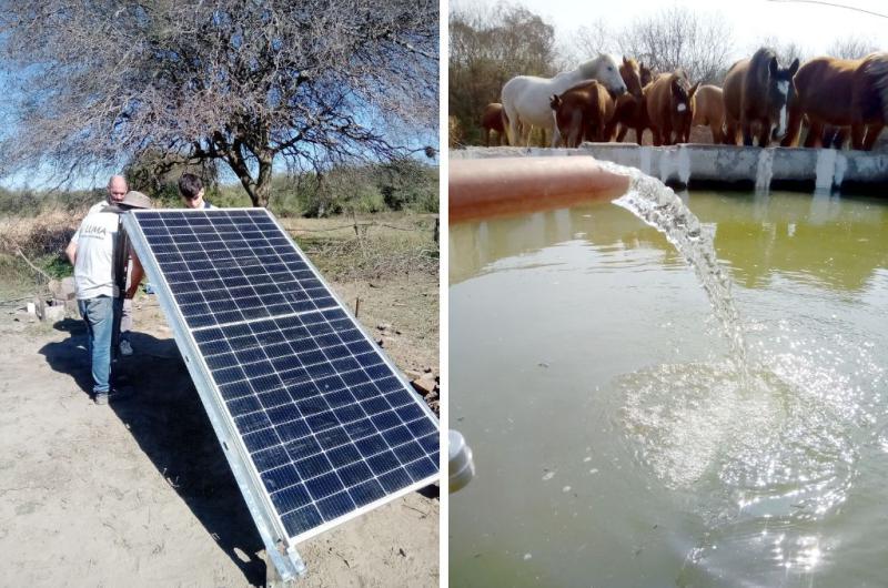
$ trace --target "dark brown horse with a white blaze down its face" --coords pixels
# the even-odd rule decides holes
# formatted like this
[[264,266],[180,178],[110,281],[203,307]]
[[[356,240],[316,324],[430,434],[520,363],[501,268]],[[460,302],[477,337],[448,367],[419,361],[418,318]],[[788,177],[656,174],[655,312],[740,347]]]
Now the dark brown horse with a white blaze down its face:
[[795,97],[793,77],[797,71],[798,59],[780,68],[774,51],[764,47],[730,67],[723,85],[728,143],[737,143],[738,126],[745,145],[753,144],[756,125],[759,146],[786,135],[787,105]]

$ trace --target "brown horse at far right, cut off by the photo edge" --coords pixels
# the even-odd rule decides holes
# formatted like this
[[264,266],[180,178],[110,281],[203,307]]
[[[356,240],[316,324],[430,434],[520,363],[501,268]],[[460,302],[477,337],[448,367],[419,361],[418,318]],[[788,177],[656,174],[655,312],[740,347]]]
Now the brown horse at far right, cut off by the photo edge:
[[[798,70],[795,83],[784,145],[798,144],[803,116],[810,124],[805,146],[823,143],[825,126],[829,125],[850,128],[851,149],[869,151],[888,124],[888,53],[870,53],[862,59],[816,58]],[[834,139],[833,143],[839,141]]]

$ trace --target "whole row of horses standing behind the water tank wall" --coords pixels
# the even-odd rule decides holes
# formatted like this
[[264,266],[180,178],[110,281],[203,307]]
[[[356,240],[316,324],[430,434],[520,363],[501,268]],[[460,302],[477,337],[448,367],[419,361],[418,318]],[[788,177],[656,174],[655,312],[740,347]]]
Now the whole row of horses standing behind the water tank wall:
[[654,73],[634,59],[599,55],[554,78],[512,78],[482,116],[487,146],[492,132],[500,144],[527,145],[534,128],[552,146],[622,142],[629,129],[639,145],[645,130],[654,145],[672,145],[687,143],[693,125],[708,126],[716,143],[798,146],[803,123],[804,146],[850,139],[851,149],[872,149],[888,124],[888,53],[781,67],[761,48],[734,63],[722,88],[692,84],[683,70]]

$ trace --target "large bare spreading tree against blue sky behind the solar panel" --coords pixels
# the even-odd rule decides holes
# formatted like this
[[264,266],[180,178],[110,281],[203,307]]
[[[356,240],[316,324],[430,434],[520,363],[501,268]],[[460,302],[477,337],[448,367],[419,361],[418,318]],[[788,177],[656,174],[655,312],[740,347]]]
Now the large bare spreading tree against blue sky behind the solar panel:
[[264,206],[275,162],[431,150],[408,138],[437,125],[438,16],[436,0],[0,0],[19,81],[0,155],[68,176],[148,151],[215,160]]

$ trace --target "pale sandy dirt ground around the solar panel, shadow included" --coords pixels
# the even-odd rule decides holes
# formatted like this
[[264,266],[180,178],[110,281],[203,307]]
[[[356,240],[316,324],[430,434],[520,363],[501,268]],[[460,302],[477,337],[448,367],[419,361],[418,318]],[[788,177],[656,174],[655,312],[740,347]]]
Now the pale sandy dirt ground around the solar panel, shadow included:
[[[437,280],[333,283],[404,371],[438,367]],[[90,399],[82,322],[0,308],[0,586],[264,586],[263,545],[157,298],[135,304],[135,395]],[[438,585],[436,488],[302,544],[305,587]],[[428,496],[425,496],[428,495]]]

